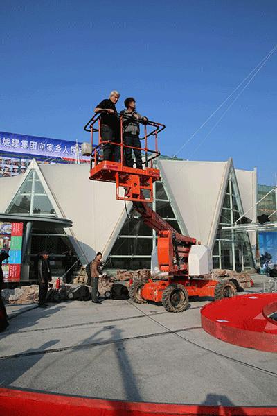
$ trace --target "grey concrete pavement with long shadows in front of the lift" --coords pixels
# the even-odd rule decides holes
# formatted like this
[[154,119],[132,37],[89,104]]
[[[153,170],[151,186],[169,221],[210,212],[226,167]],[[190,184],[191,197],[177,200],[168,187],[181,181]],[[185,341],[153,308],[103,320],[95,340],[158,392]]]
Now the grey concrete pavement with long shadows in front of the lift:
[[130,401],[276,406],[276,354],[209,336],[200,322],[206,303],[190,302],[179,314],[127,300],[8,306],[17,315],[0,334],[0,385]]

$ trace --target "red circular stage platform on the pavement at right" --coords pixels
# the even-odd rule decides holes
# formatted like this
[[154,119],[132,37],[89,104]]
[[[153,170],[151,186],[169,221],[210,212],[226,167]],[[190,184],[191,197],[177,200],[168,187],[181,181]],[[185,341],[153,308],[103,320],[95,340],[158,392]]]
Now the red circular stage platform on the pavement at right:
[[239,295],[201,310],[202,328],[226,343],[277,352],[277,293]]

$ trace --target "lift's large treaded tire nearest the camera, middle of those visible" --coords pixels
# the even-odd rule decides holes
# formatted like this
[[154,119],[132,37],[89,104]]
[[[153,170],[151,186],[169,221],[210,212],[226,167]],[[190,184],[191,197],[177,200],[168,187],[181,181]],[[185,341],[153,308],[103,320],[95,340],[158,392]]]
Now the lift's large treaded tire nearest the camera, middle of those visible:
[[188,292],[181,284],[170,284],[163,291],[161,302],[168,312],[183,312],[188,307]]

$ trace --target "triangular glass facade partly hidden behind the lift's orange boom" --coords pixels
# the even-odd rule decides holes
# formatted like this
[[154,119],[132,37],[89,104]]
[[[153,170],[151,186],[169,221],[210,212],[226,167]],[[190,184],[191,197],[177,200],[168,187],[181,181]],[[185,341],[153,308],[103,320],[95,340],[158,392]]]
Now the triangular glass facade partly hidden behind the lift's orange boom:
[[[162,182],[153,186],[154,211],[181,232],[177,215]],[[143,223],[141,216],[134,210],[129,213],[107,259],[109,269],[137,270],[150,268],[151,253],[157,244],[156,232]]]

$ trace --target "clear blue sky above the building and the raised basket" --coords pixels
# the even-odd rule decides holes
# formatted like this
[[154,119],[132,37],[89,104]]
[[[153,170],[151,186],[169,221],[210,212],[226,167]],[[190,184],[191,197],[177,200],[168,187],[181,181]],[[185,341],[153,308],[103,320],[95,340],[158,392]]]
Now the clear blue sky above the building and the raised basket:
[[[134,96],[166,124],[161,153],[174,155],[277,44],[276,22],[275,0],[1,0],[0,130],[89,141],[84,123],[118,89],[118,110]],[[233,157],[274,184],[276,74],[277,52],[179,157]]]

